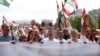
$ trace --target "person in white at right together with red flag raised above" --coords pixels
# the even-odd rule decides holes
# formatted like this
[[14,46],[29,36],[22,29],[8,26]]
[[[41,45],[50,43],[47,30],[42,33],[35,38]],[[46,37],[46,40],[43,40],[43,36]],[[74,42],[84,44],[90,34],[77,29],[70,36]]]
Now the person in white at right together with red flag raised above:
[[82,32],[80,35],[80,39],[83,40],[83,42],[85,43],[95,43],[94,37],[92,37],[92,30],[89,27],[89,21],[87,19],[85,9],[83,9],[82,12],[81,24],[82,24]]

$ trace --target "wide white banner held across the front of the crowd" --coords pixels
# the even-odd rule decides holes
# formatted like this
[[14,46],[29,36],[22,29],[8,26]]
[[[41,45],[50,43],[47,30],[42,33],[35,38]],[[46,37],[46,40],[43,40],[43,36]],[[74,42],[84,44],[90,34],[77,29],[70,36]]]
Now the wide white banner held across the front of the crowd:
[[1,42],[0,56],[100,56],[100,45]]

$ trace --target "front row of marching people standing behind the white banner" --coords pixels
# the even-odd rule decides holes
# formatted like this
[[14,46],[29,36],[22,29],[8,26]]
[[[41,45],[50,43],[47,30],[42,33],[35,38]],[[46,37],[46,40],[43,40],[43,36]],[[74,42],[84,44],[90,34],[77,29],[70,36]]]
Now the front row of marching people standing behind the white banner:
[[39,31],[32,29],[28,35],[16,36],[7,24],[1,26],[2,34],[0,35],[0,42],[29,42],[29,43],[100,43],[100,30],[92,29],[90,27],[83,27],[81,32],[77,29],[69,31],[64,28],[60,31],[54,30],[52,27],[44,31],[44,28],[39,28]]

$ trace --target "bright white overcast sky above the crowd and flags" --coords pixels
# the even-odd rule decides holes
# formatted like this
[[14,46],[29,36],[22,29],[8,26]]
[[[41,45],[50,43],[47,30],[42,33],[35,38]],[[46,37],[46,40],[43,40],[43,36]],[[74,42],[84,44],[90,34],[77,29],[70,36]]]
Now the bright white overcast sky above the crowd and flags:
[[[32,20],[41,23],[42,19],[52,20],[57,18],[56,0],[7,0],[10,2],[9,8],[0,4],[0,19],[4,15],[8,21],[12,20]],[[61,2],[57,0],[61,9]],[[100,8],[99,0],[77,0],[79,9],[86,11]]]

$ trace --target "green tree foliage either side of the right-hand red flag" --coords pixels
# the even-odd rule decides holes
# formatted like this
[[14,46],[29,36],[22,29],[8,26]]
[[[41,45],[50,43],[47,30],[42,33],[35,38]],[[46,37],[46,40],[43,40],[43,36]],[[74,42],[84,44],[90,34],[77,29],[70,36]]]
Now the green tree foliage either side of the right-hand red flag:
[[[92,28],[99,28],[99,24],[97,22],[96,19],[92,19],[89,15],[87,15],[88,17],[88,20],[89,20],[89,27],[92,27]],[[76,17],[71,17],[69,19],[69,21],[71,22],[71,25],[72,25],[72,28],[75,28],[77,29],[78,31],[81,31],[81,19],[82,17],[81,16],[76,16]]]

